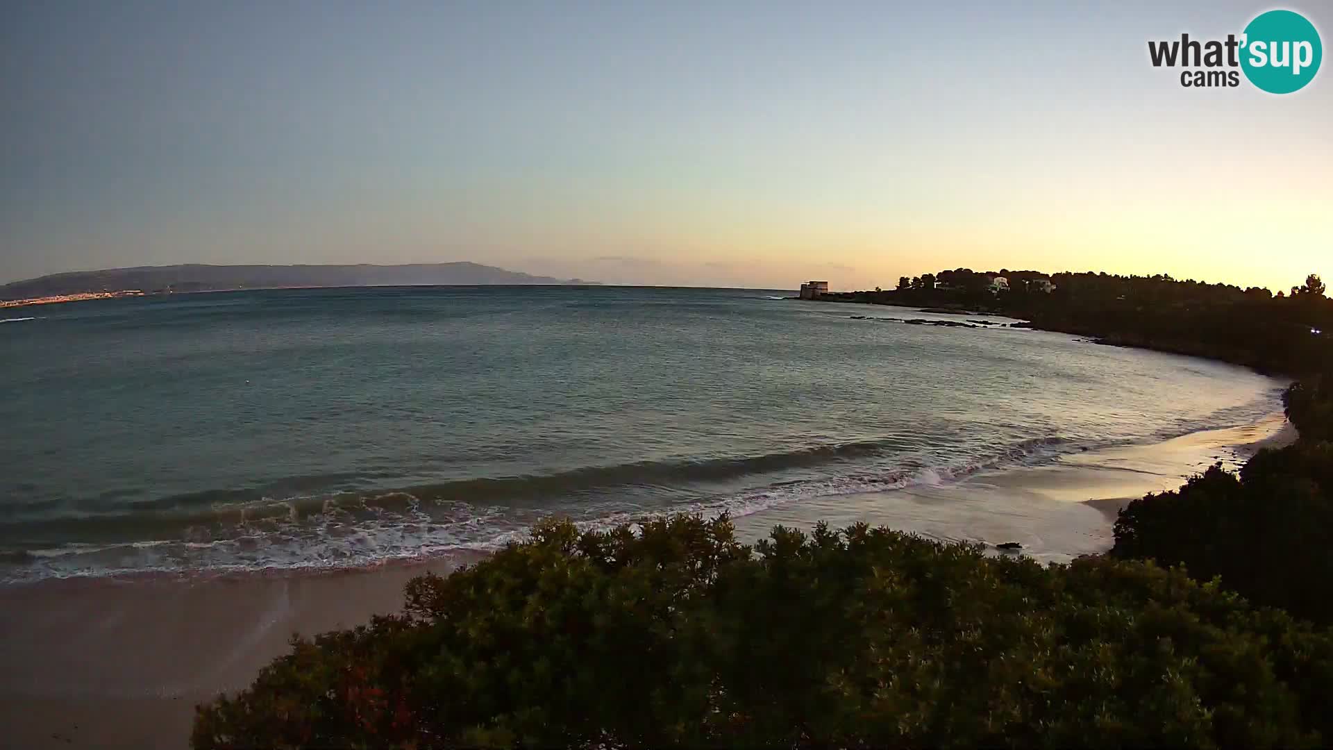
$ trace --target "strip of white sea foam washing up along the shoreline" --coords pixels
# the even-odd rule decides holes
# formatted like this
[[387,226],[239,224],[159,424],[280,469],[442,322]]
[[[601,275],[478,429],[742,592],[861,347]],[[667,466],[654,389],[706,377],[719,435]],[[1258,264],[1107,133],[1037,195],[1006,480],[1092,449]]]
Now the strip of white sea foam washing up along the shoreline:
[[[463,502],[431,503],[407,492],[383,492],[361,498],[357,503],[325,500],[321,511],[300,516],[295,508],[299,500],[309,498],[264,498],[217,508],[236,519],[236,530],[243,532],[235,536],[33,550],[28,552],[29,565],[12,569],[8,578],[31,581],[193,570],[344,569],[452,552],[491,552],[525,539],[532,523],[548,515],[568,516],[580,530],[609,530],[665,512],[700,514],[705,518],[726,512],[732,518],[745,518],[814,498],[938,486],[1000,463],[1024,463],[1054,455],[1058,446],[1062,443],[1057,439],[1029,440],[984,460],[917,470],[861,470],[657,507],[599,503],[513,508]],[[389,498],[396,502],[387,503]],[[356,514],[357,510],[365,512]]]

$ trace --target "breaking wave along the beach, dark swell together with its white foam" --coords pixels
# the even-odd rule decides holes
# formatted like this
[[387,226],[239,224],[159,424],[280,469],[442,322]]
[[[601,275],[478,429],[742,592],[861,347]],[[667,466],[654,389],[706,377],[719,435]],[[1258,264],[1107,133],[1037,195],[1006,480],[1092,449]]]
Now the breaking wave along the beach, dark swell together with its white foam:
[[[564,515],[581,528],[608,528],[661,512],[728,512],[741,518],[806,499],[940,484],[977,471],[1049,456],[1062,438],[1022,440],[985,456],[929,466],[897,462],[902,439],[817,446],[758,456],[639,462],[543,476],[465,479],[373,492],[284,499],[201,492],[136,504],[116,515],[0,523],[4,536],[80,543],[29,543],[0,550],[9,581],[144,571],[349,567],[452,551],[488,551],[524,538],[537,519]],[[865,458],[894,460],[864,462]],[[856,460],[852,460],[856,459]],[[782,470],[844,466],[820,476],[776,479]],[[770,479],[749,490],[681,490],[745,475]],[[601,492],[628,486],[674,486],[676,495]],[[585,495],[580,498],[580,492]],[[624,495],[624,496],[617,496]],[[532,503],[541,498],[549,502]],[[184,507],[183,507],[184,503]],[[203,504],[200,504],[203,503]],[[17,526],[23,534],[16,535]],[[4,528],[9,527],[9,528]],[[5,565],[8,563],[8,565]]]

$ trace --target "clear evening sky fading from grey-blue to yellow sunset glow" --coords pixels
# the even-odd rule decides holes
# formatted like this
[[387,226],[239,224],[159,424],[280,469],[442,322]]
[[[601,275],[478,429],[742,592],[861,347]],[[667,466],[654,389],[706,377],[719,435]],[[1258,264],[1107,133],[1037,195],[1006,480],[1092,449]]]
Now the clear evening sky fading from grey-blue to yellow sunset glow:
[[[1333,43],[1333,4],[1302,12]],[[0,5],[0,283],[472,260],[834,290],[941,268],[1333,276],[1333,64],[1182,88],[1272,5]]]

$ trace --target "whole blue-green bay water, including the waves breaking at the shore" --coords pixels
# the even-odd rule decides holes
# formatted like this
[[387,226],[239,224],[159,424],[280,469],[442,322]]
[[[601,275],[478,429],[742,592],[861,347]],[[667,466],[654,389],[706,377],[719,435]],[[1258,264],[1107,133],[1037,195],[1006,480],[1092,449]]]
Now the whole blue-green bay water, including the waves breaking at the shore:
[[[790,292],[180,295],[7,311],[0,577],[344,566],[560,512],[748,514],[1244,424],[1242,368]],[[5,316],[0,316],[5,318]]]

